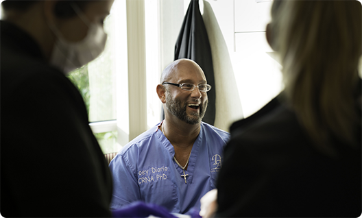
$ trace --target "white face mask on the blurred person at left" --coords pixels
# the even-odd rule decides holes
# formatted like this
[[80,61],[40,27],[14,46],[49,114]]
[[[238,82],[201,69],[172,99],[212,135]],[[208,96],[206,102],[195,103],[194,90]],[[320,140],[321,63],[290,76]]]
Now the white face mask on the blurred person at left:
[[69,42],[55,25],[49,24],[49,27],[58,38],[51,53],[50,63],[65,74],[95,60],[104,51],[107,40],[107,34],[101,24],[90,23],[77,5],[73,4],[72,8],[88,26],[87,35],[83,40],[77,43]]

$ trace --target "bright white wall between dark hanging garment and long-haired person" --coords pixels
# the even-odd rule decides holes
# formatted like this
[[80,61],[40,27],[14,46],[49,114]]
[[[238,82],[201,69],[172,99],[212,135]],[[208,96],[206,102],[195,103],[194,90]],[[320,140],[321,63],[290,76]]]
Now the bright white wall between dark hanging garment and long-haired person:
[[217,82],[215,126],[228,130],[233,121],[250,116],[282,89],[280,64],[265,39],[272,2],[203,3]]

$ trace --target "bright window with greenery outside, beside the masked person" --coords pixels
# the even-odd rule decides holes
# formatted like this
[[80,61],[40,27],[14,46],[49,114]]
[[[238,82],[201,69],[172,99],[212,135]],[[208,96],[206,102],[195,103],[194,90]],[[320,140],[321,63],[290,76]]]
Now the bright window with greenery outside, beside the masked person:
[[[119,63],[127,60],[126,47],[122,47],[117,40],[126,40],[119,36],[119,32],[125,32],[122,21],[117,14],[125,10],[124,1],[115,1],[110,15],[104,23],[104,29],[108,34],[106,48],[101,55],[69,74],[69,79],[77,86],[86,103],[90,127],[101,149],[105,154],[117,152],[121,145],[117,143],[117,112],[123,112],[123,108],[117,106],[117,74],[127,73],[127,70],[119,67]],[[123,7],[122,7],[123,6]],[[117,38],[117,40],[116,40]],[[127,103],[127,102],[125,102]],[[123,104],[125,105],[125,104]],[[127,104],[126,104],[127,105]]]

